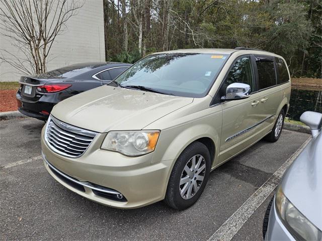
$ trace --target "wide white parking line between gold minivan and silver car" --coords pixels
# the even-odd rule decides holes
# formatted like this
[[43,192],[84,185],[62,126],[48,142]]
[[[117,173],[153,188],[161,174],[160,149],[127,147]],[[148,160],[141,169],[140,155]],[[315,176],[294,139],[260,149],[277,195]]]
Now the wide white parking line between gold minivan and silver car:
[[[308,138],[276,172],[244,202],[208,239],[208,241],[229,241],[277,187],[286,169],[309,143]],[[264,214],[263,214],[264,215]]]

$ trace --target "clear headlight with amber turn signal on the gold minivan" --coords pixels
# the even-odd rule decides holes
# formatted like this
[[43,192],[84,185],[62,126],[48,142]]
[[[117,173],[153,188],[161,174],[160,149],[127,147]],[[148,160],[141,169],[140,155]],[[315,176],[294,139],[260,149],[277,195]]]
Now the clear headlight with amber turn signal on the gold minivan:
[[126,156],[140,156],[154,151],[159,134],[160,131],[109,132],[101,149]]

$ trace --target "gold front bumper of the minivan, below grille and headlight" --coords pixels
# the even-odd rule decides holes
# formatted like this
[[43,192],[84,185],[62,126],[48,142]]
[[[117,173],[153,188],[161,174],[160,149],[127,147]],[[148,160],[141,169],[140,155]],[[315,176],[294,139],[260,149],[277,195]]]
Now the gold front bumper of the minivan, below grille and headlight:
[[[111,207],[137,208],[163,200],[172,162],[151,164],[153,153],[131,158],[101,150],[99,147],[104,138],[105,134],[98,134],[83,156],[68,158],[54,153],[47,146],[43,129],[41,146],[48,173],[71,191]],[[91,186],[79,189],[79,186],[59,177],[50,165],[78,182],[120,193],[123,199],[118,200],[116,195],[102,195]]]

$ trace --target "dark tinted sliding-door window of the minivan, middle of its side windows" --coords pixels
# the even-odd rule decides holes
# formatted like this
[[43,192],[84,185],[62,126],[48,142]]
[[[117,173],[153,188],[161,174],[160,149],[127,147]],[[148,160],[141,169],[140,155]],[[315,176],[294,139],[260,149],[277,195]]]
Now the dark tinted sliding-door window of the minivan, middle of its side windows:
[[256,58],[259,90],[276,85],[276,75],[273,59]]

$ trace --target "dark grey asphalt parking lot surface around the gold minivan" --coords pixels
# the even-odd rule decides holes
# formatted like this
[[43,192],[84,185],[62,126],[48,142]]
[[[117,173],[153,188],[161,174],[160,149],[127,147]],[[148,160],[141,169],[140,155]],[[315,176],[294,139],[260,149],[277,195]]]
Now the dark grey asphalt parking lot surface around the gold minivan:
[[[187,210],[163,202],[121,210],[81,197],[47,173],[40,158],[43,125],[33,118],[0,122],[1,240],[262,240],[273,195],[265,187],[309,138],[283,131],[277,143],[260,141],[213,171]],[[260,200],[263,186],[269,193]]]

